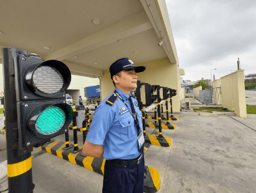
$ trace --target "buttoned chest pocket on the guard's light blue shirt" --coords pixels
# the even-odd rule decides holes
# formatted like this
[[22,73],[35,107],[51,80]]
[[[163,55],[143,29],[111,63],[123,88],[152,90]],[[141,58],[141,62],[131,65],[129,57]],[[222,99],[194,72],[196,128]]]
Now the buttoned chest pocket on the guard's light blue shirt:
[[128,116],[127,118],[119,120],[121,125],[120,127],[120,136],[122,139],[128,139],[132,136],[132,127],[134,126],[134,120],[132,117]]

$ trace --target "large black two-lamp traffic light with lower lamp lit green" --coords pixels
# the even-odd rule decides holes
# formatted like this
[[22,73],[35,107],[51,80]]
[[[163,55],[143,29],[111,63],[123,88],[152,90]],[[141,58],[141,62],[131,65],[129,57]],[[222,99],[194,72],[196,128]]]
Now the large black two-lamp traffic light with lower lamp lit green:
[[8,48],[8,57],[16,80],[19,148],[42,146],[65,133],[72,121],[73,109],[65,94],[70,70],[63,62],[44,61],[14,47]]

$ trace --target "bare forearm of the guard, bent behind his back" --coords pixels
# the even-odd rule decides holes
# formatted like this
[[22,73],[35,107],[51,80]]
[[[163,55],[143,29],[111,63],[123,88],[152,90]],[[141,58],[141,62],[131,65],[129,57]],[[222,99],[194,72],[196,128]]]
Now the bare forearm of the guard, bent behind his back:
[[104,147],[102,145],[95,145],[85,140],[83,144],[82,153],[91,157],[103,157]]

